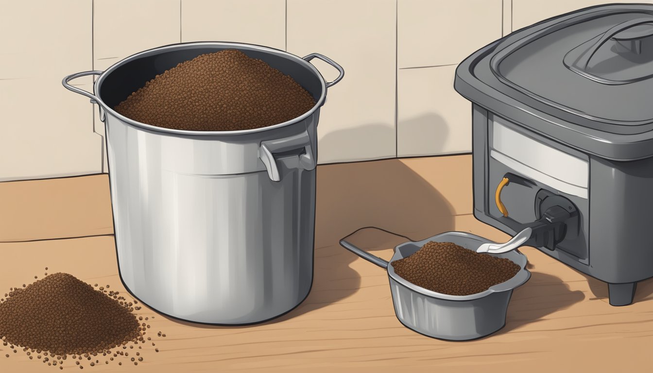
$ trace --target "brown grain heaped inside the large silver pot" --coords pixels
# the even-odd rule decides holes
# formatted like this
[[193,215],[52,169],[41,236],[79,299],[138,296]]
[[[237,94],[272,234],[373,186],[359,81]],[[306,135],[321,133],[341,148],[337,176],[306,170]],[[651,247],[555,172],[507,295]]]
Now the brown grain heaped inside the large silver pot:
[[291,76],[238,50],[222,50],[155,76],[115,110],[157,127],[237,131],[293,120],[314,105]]

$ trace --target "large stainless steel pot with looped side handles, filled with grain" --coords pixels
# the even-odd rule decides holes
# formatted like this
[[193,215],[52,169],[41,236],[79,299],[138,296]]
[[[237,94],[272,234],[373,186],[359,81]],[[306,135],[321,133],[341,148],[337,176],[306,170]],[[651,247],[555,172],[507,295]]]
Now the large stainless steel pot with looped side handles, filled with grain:
[[[182,131],[135,122],[114,106],[145,82],[200,54],[236,49],[291,75],[316,101],[294,120],[246,131]],[[340,71],[325,83],[309,63]],[[91,94],[71,86],[99,74]],[[63,85],[100,106],[106,123],[121,280],[168,316],[258,323],[289,312],[313,281],[316,127],[327,88],[343,69],[327,57],[230,42],[140,52]]]

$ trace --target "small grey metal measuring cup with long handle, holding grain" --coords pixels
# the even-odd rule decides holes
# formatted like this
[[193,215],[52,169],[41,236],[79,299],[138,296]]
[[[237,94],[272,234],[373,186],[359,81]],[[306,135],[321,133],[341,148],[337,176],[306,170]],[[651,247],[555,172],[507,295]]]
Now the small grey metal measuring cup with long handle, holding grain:
[[453,242],[473,251],[482,244],[494,243],[471,233],[447,232],[419,242],[409,241],[396,246],[389,262],[357,248],[344,238],[340,240],[340,245],[387,269],[394,312],[399,321],[409,329],[443,340],[473,340],[502,329],[513,289],[523,285],[530,278],[530,272],[526,269],[526,255],[517,250],[486,254],[509,259],[520,267],[519,272],[510,280],[481,293],[447,295],[411,284],[394,273],[392,267],[392,262],[408,257],[430,241]]

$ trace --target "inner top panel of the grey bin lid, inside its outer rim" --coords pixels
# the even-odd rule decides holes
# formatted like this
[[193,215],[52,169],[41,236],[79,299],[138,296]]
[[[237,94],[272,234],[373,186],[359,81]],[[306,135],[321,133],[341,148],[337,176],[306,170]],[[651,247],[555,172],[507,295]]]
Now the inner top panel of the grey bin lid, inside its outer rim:
[[502,44],[503,84],[613,125],[653,121],[653,11],[596,9]]

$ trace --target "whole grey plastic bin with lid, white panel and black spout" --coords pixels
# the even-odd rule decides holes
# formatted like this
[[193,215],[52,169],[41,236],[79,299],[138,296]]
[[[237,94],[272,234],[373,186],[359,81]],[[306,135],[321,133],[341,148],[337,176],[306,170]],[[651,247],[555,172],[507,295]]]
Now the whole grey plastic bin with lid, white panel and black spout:
[[473,104],[474,216],[515,235],[543,206],[574,211],[534,246],[633,302],[653,276],[653,5],[517,30],[462,61],[454,88]]

